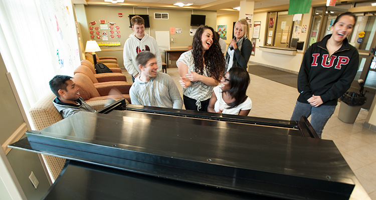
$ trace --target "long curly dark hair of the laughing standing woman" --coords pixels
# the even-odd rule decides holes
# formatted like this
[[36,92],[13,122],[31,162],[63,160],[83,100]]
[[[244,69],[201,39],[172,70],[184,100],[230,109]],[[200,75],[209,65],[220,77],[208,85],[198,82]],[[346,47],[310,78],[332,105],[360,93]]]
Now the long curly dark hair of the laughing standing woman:
[[[204,53],[201,36],[203,35],[205,29],[212,30],[213,43]],[[225,71],[225,58],[219,44],[219,35],[215,33],[212,27],[202,25],[197,29],[195,35],[193,36],[192,53],[194,57],[195,71],[201,75],[204,73],[204,54],[208,75],[219,81]]]

